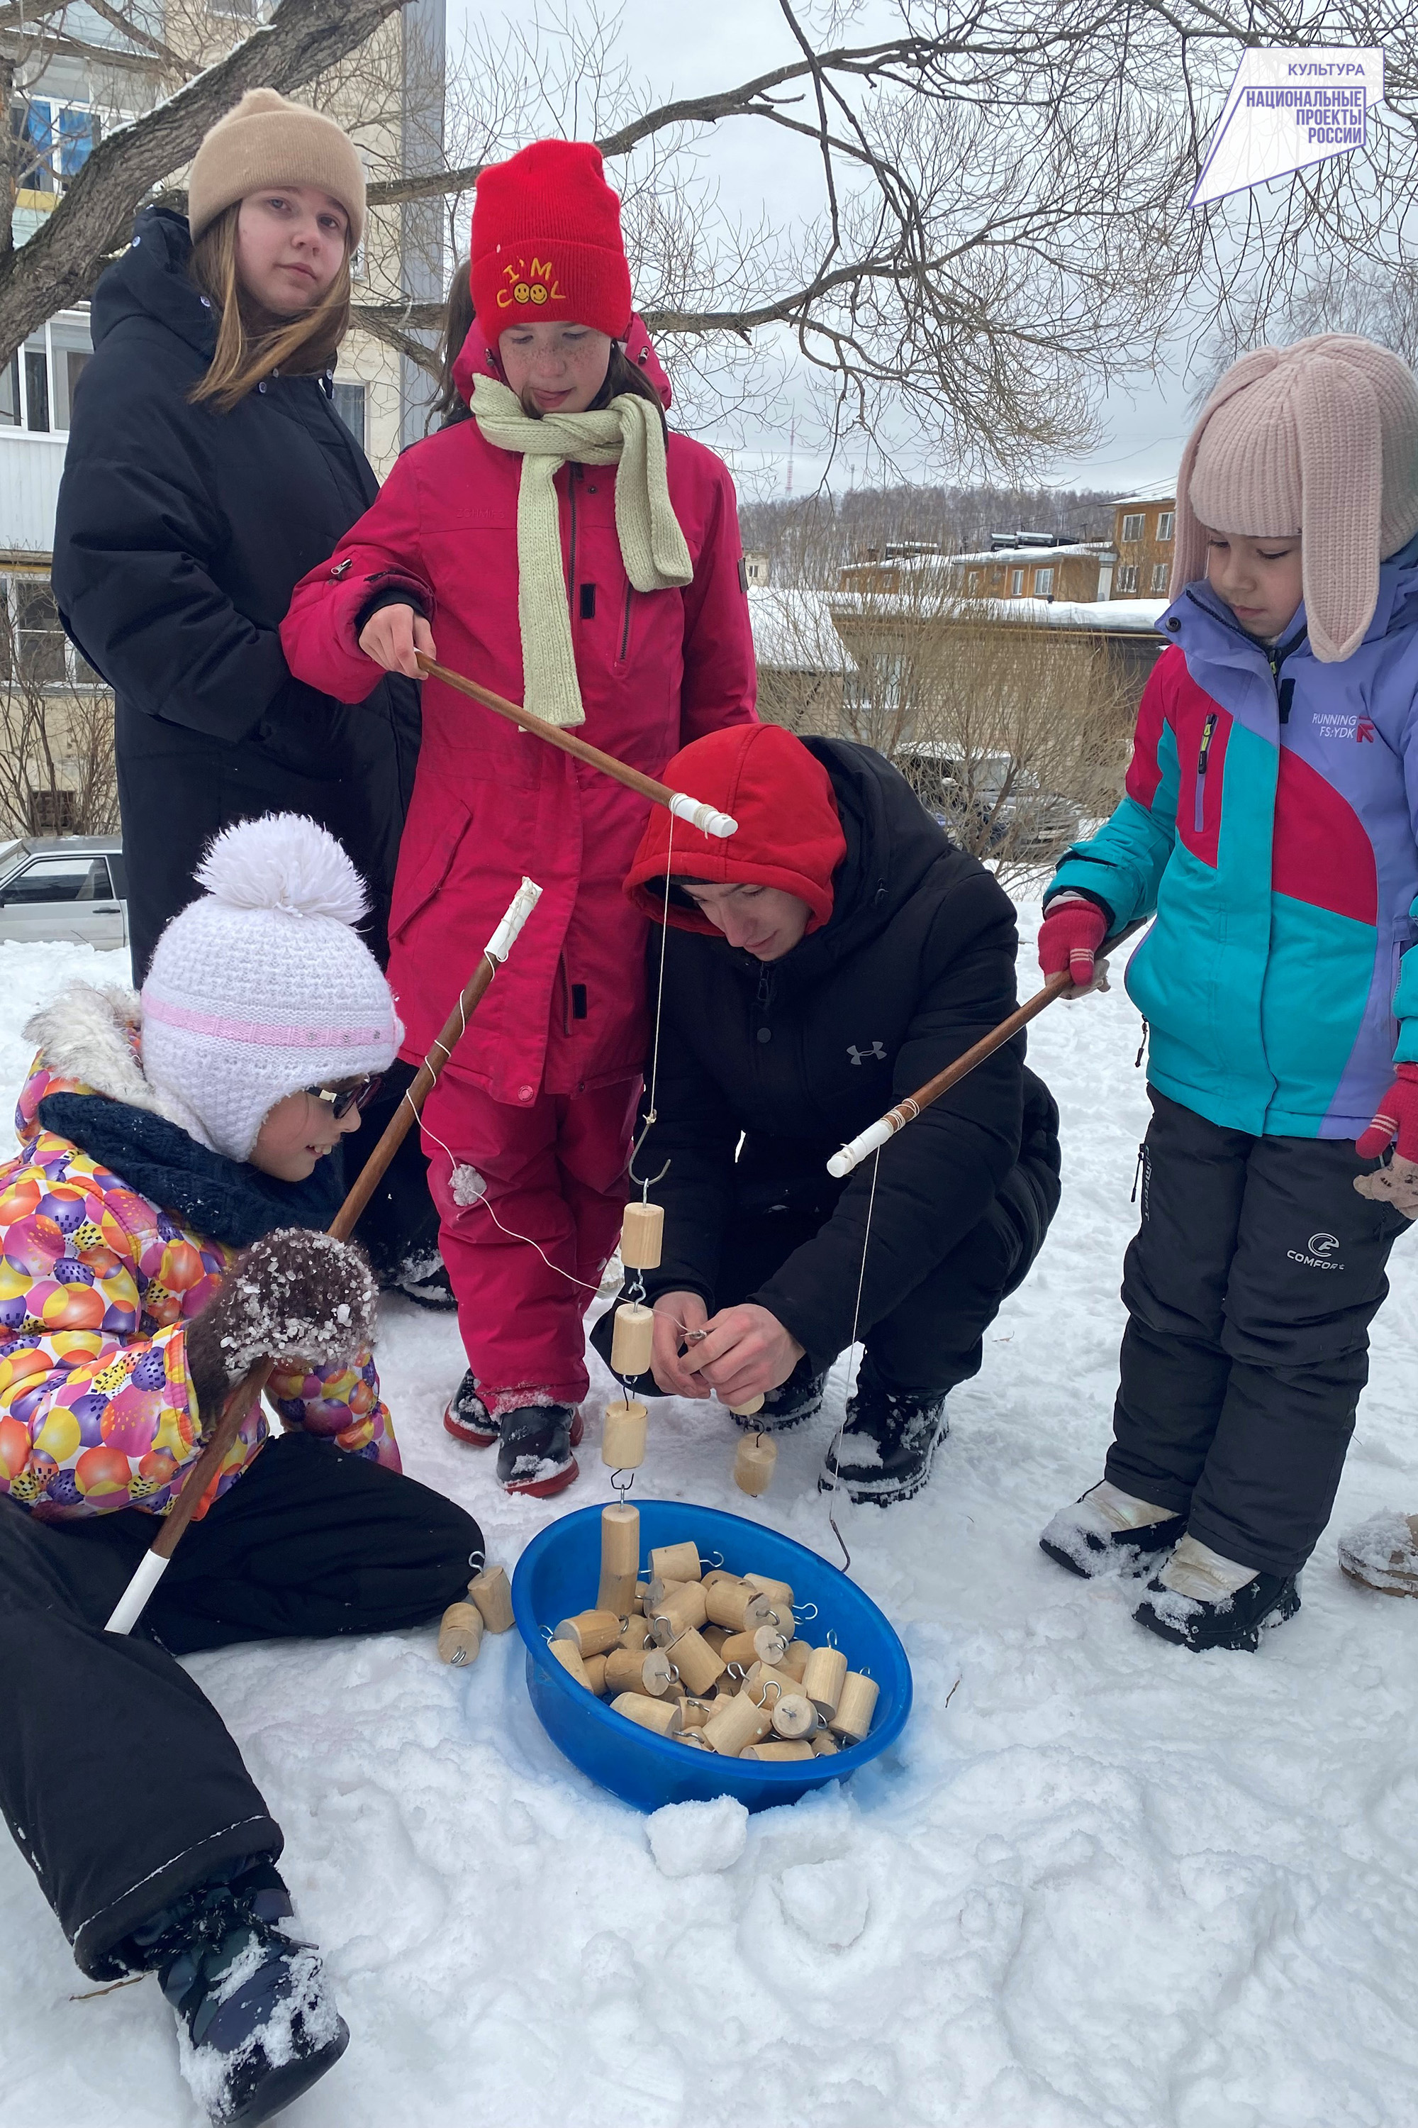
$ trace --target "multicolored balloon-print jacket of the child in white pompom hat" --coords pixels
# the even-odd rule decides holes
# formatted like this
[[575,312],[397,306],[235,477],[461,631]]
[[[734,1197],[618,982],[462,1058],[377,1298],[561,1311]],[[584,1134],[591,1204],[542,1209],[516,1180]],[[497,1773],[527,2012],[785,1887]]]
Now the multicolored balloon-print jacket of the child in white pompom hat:
[[[136,1041],[132,1024],[119,1032]],[[43,1104],[64,1094],[87,1096],[74,1107],[100,1111],[108,1136],[121,1134],[125,1119],[142,1126],[149,1177],[153,1136],[162,1143],[174,1130],[98,1100],[83,1079],[36,1058],[15,1113],[21,1149],[0,1166],[0,1492],[49,1522],[121,1507],[164,1515],[200,1451],[200,1426],[213,1417],[198,1415],[185,1328],[217,1294],[238,1247],[198,1232],[170,1204],[45,1128]],[[215,1153],[198,1153],[198,1162],[234,1177],[253,1173]],[[174,1194],[189,1187],[189,1170],[174,1170]],[[208,1177],[204,1200],[219,1198]],[[310,1221],[270,1219],[281,1224]],[[240,1238],[255,1238],[249,1217]],[[400,1468],[368,1351],[310,1375],[291,1362],[272,1377],[270,1394],[287,1428]],[[266,1439],[257,1407],[210,1498],[236,1483]]]

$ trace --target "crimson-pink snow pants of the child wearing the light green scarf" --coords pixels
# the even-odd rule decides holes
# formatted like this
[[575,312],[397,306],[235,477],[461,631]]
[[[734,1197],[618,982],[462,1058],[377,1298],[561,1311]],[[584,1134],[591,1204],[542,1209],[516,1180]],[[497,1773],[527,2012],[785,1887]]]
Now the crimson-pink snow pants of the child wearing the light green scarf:
[[[538,1094],[523,1107],[444,1073],[427,1098],[423,1149],[442,1221],[438,1241],[468,1366],[495,1409],[514,1409],[510,1390],[534,1390],[525,1402],[557,1404],[587,1394],[583,1317],[621,1234],[638,1096],[636,1075],[589,1094]],[[432,1132],[487,1183],[476,1204],[455,1202],[453,1166]],[[491,1213],[527,1241],[504,1234]],[[583,1283],[572,1285],[563,1270]]]

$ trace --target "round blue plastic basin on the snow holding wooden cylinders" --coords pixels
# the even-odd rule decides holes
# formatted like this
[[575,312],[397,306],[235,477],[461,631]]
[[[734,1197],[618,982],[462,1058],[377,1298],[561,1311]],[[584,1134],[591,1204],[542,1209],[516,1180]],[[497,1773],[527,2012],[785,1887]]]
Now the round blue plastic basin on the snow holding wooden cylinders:
[[527,1692],[536,1715],[572,1766],[578,1766],[612,1796],[634,1802],[638,1811],[657,1811],[663,1802],[708,1802],[712,1796],[738,1796],[750,1811],[767,1811],[778,1802],[797,1802],[810,1788],[846,1781],[853,1773],[893,1743],[910,1713],[910,1664],[906,1649],[870,1596],[844,1573],[742,1515],[723,1515],[712,1507],[687,1500],[638,1500],[642,1562],[655,1545],[693,1539],[699,1558],[716,1551],[731,1573],[761,1573],[793,1585],[799,1607],[816,1605],[816,1617],[804,1622],[804,1639],[821,1647],[827,1630],[853,1670],[870,1670],[880,1685],[872,1734],[865,1743],[844,1747],[831,1758],[784,1760],[780,1764],[750,1758],[714,1758],[708,1751],[687,1751],[682,1743],[636,1728],[608,1705],[593,1698],[585,1685],[572,1683],[559,1662],[546,1653],[544,1626],[555,1626],[595,1602],[602,1562],[602,1511],[583,1507],[563,1515],[534,1536],[512,1575],[512,1609],[517,1630],[527,1643]]

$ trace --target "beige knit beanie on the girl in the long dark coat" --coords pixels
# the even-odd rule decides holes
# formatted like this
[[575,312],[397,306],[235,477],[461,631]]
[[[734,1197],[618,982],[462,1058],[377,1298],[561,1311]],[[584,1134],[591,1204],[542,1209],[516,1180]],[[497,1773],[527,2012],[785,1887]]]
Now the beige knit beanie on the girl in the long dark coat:
[[249,192],[268,185],[315,185],[349,215],[351,251],[364,238],[364,164],[334,119],[293,104],[278,89],[247,89],[204,136],[187,179],[187,223],[193,238]]

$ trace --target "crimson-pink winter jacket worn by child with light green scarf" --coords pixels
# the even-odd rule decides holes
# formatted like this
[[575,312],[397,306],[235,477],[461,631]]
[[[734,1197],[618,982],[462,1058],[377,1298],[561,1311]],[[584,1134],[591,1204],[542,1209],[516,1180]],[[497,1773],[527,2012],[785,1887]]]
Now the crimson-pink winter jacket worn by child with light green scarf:
[[[636,319],[629,358],[670,387]],[[457,364],[470,396],[491,355],[474,326]],[[417,592],[442,664],[523,698],[517,626],[521,458],[459,421],[404,451],[378,502],[296,585],[281,628],[298,679],[361,702],[376,666],[357,643],[381,592]],[[670,436],[670,500],[693,558],[682,592],[634,592],[614,528],[614,466],[563,466],[561,551],[583,738],[659,775],[691,738],[750,724],[753,636],[729,470]],[[423,683],[423,751],[389,917],[389,983],[419,1062],[527,872],[542,900],[457,1047],[451,1070],[529,1102],[634,1077],[646,1051],[644,917],[621,881],[648,802],[466,696]],[[359,851],[351,851],[359,862]]]

